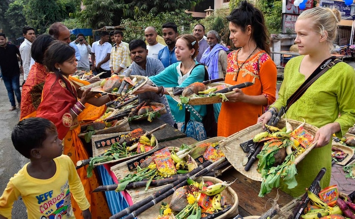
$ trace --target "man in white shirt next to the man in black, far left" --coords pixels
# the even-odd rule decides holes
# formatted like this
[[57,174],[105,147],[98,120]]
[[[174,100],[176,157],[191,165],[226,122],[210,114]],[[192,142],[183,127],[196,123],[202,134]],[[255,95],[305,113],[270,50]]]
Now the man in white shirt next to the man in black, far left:
[[[32,43],[36,38],[35,34],[35,29],[29,26],[25,26],[22,29],[22,34],[25,37],[25,40],[21,43],[20,45],[20,54],[21,54],[21,59],[22,59],[22,64],[23,64],[23,70],[24,70],[24,81],[22,83],[25,84],[28,74],[31,69],[31,47]],[[34,62],[32,62],[33,64]]]

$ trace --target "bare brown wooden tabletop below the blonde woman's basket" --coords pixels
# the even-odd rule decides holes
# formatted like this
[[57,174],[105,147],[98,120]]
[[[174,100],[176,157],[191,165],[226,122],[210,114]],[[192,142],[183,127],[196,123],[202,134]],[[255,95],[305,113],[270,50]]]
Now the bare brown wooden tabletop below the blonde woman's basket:
[[290,195],[277,189],[273,189],[263,198],[259,197],[258,194],[261,182],[250,180],[233,168],[224,172],[223,175],[219,176],[218,178],[228,182],[232,182],[237,179],[236,182],[231,185],[231,187],[237,192],[239,200],[238,208],[240,209],[240,212],[248,214],[242,216],[262,215],[273,206],[273,200],[276,199],[277,193],[280,195],[279,199],[277,200],[277,203],[280,205],[280,207],[284,206],[293,199]]

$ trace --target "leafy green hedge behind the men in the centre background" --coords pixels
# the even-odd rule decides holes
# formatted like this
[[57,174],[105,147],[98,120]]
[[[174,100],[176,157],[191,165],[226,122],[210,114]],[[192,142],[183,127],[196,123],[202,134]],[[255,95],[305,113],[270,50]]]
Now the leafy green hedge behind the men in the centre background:
[[148,26],[156,28],[158,35],[162,36],[162,25],[166,22],[174,22],[178,25],[179,34],[191,33],[191,14],[187,14],[184,10],[179,9],[172,12],[160,12],[158,14],[148,13],[146,16],[136,16],[133,19],[123,19],[121,26],[126,30],[124,32],[124,40],[129,42],[132,39],[144,38],[144,29]]

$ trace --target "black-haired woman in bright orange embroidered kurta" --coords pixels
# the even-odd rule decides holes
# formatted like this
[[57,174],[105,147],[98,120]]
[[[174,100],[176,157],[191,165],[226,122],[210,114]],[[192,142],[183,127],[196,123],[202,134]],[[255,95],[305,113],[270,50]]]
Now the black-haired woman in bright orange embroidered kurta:
[[254,125],[265,107],[275,101],[276,65],[270,58],[268,34],[263,15],[247,1],[227,16],[230,39],[240,49],[228,54],[225,83],[253,85],[234,89],[222,103],[218,117],[217,136],[227,137]]

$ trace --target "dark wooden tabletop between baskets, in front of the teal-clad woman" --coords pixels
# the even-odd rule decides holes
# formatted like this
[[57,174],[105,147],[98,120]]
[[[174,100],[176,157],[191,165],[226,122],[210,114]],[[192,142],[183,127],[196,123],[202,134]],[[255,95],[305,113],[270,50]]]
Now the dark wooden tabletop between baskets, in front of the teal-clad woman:
[[[159,127],[161,125],[165,124],[164,121],[160,119],[154,119],[152,122],[149,122],[147,120],[144,121],[132,121],[130,123],[131,130],[137,129],[137,128],[142,128],[145,131],[150,131],[153,130],[156,127]],[[169,140],[174,140],[178,138],[183,138],[186,137],[185,133],[180,132],[178,129],[167,125],[163,129],[157,130],[154,133],[155,138],[158,140],[158,142],[164,142],[164,141],[169,141]]]

